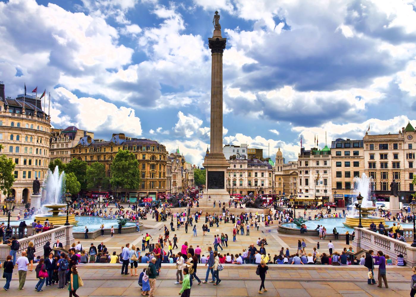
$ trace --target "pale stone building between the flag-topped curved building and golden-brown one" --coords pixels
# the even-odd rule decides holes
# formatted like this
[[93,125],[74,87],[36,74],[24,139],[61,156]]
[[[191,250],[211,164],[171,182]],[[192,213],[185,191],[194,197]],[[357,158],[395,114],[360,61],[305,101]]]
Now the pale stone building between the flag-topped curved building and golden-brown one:
[[50,161],[61,160],[62,163],[71,161],[71,150],[84,136],[94,139],[94,133],[80,130],[76,126],[69,126],[65,129],[51,129]]

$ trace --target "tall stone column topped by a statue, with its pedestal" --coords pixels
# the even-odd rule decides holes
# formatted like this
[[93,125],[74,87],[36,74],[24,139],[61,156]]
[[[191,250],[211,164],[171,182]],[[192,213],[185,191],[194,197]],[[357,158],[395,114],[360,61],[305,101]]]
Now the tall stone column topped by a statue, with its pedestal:
[[[208,38],[211,49],[211,143],[210,153],[202,164],[206,170],[206,191],[204,199],[200,199],[200,207],[208,206],[213,200],[228,200],[230,195],[226,189],[225,173],[230,164],[223,154],[223,52],[226,38],[221,36],[220,15],[214,15],[214,34]],[[211,201],[208,202],[208,196]],[[209,205],[211,206],[211,205]]]

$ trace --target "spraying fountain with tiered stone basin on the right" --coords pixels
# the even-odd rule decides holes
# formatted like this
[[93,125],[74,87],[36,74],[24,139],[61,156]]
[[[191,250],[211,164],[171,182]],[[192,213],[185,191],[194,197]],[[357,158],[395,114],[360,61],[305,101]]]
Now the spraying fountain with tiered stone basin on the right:
[[[377,209],[373,206],[373,202],[369,199],[371,181],[372,179],[366,176],[365,173],[362,174],[361,178],[354,178],[354,182],[357,185],[354,191],[361,193],[363,197],[361,203],[361,224],[364,228],[368,228],[371,223],[375,223],[377,226],[379,223],[383,223],[383,225],[387,227],[384,218],[371,215],[371,212]],[[357,227],[359,225],[359,213],[355,203],[357,203],[357,200],[352,203],[352,210],[345,218],[344,225],[347,227]]]

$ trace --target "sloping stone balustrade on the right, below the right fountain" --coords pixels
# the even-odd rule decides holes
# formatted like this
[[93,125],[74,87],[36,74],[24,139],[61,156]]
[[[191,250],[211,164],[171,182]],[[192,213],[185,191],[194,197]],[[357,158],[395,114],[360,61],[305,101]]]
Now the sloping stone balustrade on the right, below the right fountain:
[[[416,247],[410,245],[413,240],[404,243],[366,228],[355,227],[354,230],[355,238],[352,245],[356,252],[374,250],[376,254],[377,251],[381,250],[385,255],[389,255],[393,261],[397,259],[397,255],[402,254],[408,266],[416,265]],[[405,230],[406,233],[407,238],[411,237],[413,239],[413,230]]]

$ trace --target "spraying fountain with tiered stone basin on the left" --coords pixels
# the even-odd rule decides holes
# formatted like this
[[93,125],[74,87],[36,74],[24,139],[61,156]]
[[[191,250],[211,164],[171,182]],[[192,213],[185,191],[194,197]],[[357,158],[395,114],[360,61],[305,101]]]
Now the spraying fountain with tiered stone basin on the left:
[[[66,204],[59,203],[62,201],[62,188],[64,188],[64,178],[65,173],[59,173],[58,166],[55,167],[54,172],[48,170],[47,178],[45,180],[43,188],[46,189],[45,201],[42,203],[42,210],[47,212],[50,209],[51,214],[39,214],[35,215],[36,220],[40,220],[43,223],[45,220],[48,220],[54,225],[64,225],[67,221],[66,214],[59,214],[60,209],[66,208]],[[75,225],[77,221],[75,220],[75,214],[68,215],[68,222],[71,225]]]

